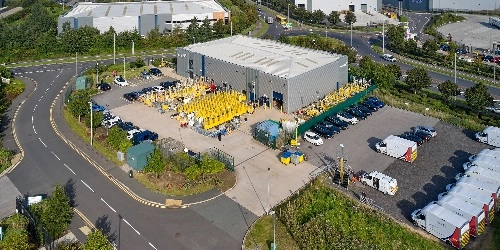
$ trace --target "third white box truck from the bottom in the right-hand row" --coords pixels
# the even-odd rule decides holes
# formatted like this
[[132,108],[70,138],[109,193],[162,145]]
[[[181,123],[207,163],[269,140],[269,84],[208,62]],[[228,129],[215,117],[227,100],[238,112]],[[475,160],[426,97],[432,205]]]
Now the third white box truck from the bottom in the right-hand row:
[[477,189],[469,186],[454,186],[449,191],[440,193],[438,200],[445,195],[453,195],[476,207],[482,208],[486,217],[486,224],[490,224],[495,217],[495,202],[490,195],[478,192]]

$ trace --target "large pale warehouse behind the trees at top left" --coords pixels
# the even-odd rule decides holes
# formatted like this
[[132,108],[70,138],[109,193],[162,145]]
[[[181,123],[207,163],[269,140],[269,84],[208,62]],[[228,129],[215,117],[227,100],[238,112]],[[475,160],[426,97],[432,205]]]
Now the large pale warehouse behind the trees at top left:
[[137,29],[145,36],[154,28],[160,32],[172,31],[177,26],[185,29],[194,17],[200,24],[205,18],[214,23],[219,19],[226,21],[229,12],[215,0],[79,2],[59,17],[58,30],[61,33],[63,24],[69,22],[74,29],[91,26],[101,33],[110,27],[116,32]]

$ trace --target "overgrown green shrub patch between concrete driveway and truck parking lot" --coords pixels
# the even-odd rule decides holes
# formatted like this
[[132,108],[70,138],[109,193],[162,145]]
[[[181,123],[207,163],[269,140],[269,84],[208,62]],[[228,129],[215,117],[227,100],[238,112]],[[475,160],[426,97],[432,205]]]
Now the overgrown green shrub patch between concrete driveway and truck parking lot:
[[318,178],[276,207],[301,249],[442,249]]

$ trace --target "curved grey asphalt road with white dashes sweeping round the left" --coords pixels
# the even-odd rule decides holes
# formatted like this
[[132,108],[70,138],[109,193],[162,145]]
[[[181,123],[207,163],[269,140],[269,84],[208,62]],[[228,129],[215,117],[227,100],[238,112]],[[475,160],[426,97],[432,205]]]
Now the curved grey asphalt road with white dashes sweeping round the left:
[[[93,65],[94,62],[82,63],[80,67]],[[49,121],[49,107],[74,75],[74,67],[70,63],[16,69],[39,71],[29,75],[38,86],[21,106],[15,123],[25,157],[8,177],[19,191],[23,194],[50,193],[56,183],[66,184],[75,191],[76,207],[91,222],[99,221],[98,226],[109,226],[118,249],[241,248],[246,228],[235,226],[228,230],[220,222],[215,224],[207,219],[199,208],[168,210],[143,205],[115,186],[56,135]],[[214,206],[221,203],[221,199],[224,198],[203,206]],[[79,233],[73,227],[72,231]]]

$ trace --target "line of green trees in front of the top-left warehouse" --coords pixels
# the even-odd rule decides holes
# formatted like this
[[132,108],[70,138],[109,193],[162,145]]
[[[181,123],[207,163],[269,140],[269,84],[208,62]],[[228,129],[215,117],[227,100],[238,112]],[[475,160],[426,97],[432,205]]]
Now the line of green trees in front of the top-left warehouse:
[[[252,4],[243,0],[222,0],[220,3],[231,10],[233,33],[241,33],[256,23],[257,11]],[[11,0],[11,7],[23,6],[23,10],[0,19],[0,63],[43,58],[58,58],[80,55],[97,55],[113,52],[113,34],[110,28],[103,32],[93,27],[77,30],[63,25],[63,32],[57,34],[57,17],[62,14],[59,4],[50,0]],[[152,30],[141,38],[137,30],[116,34],[117,52],[131,50],[131,41],[137,50],[167,49],[185,46],[193,42],[205,42],[226,37],[231,33],[230,25],[222,20],[210,25],[208,19],[198,24],[193,19],[186,31],[180,28],[172,32]]]

